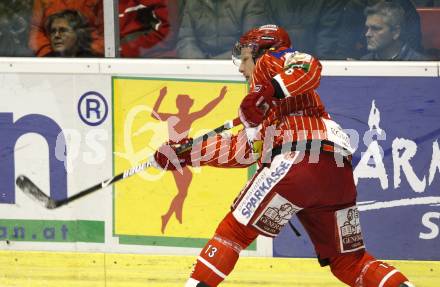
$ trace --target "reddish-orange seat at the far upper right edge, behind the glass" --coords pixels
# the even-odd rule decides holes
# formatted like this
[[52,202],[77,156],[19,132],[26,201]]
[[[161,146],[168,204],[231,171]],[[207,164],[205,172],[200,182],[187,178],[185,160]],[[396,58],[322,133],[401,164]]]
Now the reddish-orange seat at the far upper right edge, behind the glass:
[[426,50],[440,49],[440,7],[417,8],[420,15],[422,44]]

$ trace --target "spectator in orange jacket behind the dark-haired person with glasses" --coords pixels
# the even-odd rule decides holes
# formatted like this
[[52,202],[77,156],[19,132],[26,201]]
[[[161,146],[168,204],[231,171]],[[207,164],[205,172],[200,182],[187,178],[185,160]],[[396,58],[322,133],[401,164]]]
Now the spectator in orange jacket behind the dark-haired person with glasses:
[[102,0],[35,0],[32,11],[29,47],[36,56],[44,56],[52,51],[44,24],[47,17],[62,10],[79,11],[92,29],[92,49],[94,54],[104,54],[104,19]]

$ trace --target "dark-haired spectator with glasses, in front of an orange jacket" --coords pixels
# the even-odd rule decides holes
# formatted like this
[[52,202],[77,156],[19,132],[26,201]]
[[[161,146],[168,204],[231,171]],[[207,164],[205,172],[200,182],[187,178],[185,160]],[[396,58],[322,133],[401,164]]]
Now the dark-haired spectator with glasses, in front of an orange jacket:
[[45,57],[96,57],[87,20],[75,10],[50,15],[45,24],[52,52]]

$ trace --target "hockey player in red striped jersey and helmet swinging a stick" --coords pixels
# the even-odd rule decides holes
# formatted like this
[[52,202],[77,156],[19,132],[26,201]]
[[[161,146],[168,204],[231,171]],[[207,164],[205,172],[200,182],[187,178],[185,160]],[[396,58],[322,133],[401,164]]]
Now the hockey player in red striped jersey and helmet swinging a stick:
[[233,58],[241,61],[239,71],[250,84],[239,108],[246,129],[228,140],[217,136],[203,142],[192,152],[179,154],[179,161],[170,160],[176,145],[164,145],[155,159],[166,169],[179,168],[178,162],[249,166],[253,161],[243,159],[254,151],[255,133],[250,129],[257,129],[264,145],[271,139],[273,148],[269,153],[263,149],[259,169],[200,252],[185,286],[220,284],[241,250],[258,235],[276,237],[294,213],[310,236],[320,265],[329,265],[345,284],[413,286],[396,268],[365,250],[356,218],[351,149],[315,91],[321,76],[319,60],[294,51],[286,31],[275,25],[245,33]]

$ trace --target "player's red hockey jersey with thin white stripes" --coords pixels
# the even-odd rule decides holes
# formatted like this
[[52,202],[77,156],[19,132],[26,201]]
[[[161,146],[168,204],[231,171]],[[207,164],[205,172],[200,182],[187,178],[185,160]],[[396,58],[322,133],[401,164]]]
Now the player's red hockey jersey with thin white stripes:
[[[321,70],[318,59],[291,48],[268,51],[257,60],[250,83],[251,91],[275,79],[284,97],[266,111],[258,137],[263,140],[263,145],[276,148],[283,143],[326,140],[351,150],[349,138],[338,124],[330,120],[315,91],[320,83]],[[219,167],[251,165],[257,160],[257,156],[252,157],[255,153],[255,148],[252,148],[254,139],[246,141],[245,136],[246,131],[242,130],[230,139],[217,136],[204,142],[201,149],[195,149],[193,163]],[[254,158],[253,162],[250,162],[251,158]]]

